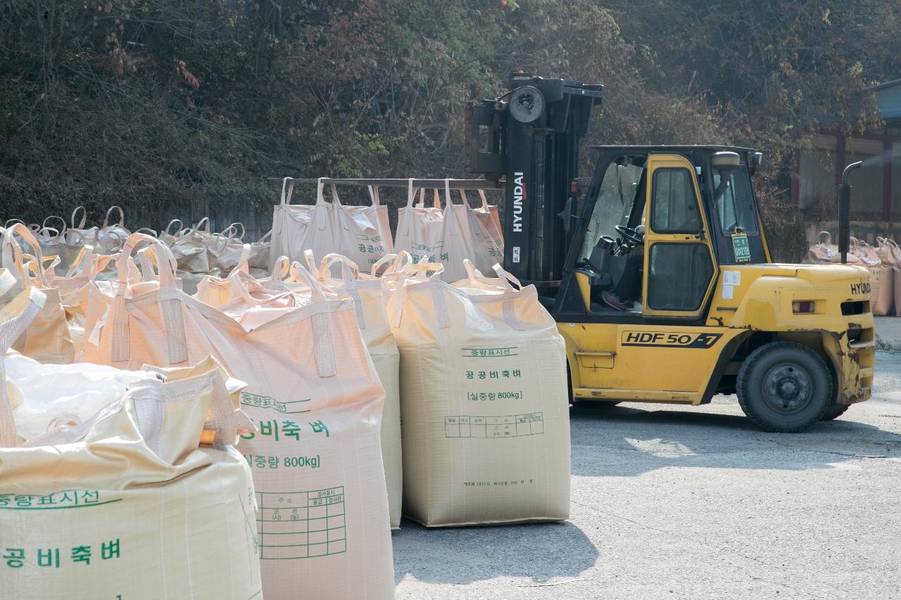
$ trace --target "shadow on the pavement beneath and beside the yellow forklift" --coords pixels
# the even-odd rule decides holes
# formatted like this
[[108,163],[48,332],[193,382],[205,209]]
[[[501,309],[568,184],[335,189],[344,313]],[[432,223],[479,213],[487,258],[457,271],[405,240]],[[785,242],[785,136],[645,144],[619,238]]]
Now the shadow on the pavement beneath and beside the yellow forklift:
[[714,412],[729,405],[633,406],[572,409],[573,475],[633,477],[668,467],[802,470],[901,457],[901,435],[854,422],[854,406],[803,433],[762,432],[742,415]]

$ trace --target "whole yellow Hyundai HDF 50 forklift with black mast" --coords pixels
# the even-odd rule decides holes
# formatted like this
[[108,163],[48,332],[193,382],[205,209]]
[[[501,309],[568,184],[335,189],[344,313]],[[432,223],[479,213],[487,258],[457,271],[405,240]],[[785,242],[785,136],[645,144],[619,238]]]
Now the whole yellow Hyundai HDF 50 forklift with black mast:
[[867,400],[867,270],[773,263],[752,149],[600,146],[594,176],[579,179],[602,98],[603,86],[518,74],[505,95],[467,107],[470,170],[505,179],[505,269],[537,286],[558,322],[571,401],[737,394],[761,428],[798,432]]

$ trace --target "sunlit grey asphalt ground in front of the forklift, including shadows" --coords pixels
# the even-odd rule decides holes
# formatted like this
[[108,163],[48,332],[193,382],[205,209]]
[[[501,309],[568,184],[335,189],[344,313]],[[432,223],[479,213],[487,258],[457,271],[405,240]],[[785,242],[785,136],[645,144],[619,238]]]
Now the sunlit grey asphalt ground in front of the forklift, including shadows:
[[710,405],[575,408],[566,523],[394,534],[398,600],[901,598],[901,355],[805,433]]

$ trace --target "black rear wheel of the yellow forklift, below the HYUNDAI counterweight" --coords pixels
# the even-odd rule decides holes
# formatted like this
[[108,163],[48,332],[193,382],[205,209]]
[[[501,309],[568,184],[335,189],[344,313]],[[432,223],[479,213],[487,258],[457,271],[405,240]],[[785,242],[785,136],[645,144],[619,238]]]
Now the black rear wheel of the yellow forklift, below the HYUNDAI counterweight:
[[768,432],[803,432],[824,418],[833,401],[826,363],[793,341],[773,341],[751,352],[735,387],[744,414]]

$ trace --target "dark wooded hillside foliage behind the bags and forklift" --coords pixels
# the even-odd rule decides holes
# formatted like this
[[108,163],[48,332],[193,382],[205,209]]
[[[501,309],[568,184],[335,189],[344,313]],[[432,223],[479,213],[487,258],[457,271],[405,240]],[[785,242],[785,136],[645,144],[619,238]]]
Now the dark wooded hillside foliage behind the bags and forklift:
[[461,176],[465,103],[523,69],[605,84],[590,142],[764,150],[790,253],[796,150],[874,123],[862,90],[901,72],[899,19],[884,0],[0,0],[0,199],[29,222],[125,204],[164,223],[265,207],[266,177]]

